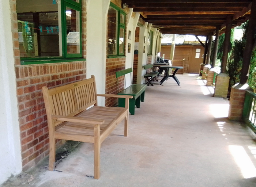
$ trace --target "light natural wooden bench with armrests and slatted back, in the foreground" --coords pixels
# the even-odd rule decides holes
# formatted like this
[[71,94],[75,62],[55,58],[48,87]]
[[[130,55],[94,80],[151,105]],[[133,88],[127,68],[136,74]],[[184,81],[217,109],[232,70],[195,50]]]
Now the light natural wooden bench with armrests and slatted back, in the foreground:
[[[97,94],[93,75],[57,88],[42,87],[42,92],[49,127],[49,170],[55,168],[56,139],[90,142],[94,143],[94,178],[99,179],[101,143],[123,119],[127,136],[129,99],[133,96]],[[98,106],[97,96],[123,98],[125,107]]]

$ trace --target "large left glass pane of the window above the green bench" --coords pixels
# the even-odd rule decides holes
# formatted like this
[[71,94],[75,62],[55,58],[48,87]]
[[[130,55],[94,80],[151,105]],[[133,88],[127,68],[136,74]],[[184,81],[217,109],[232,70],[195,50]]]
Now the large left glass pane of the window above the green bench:
[[118,11],[109,7],[108,11],[108,54],[117,54]]

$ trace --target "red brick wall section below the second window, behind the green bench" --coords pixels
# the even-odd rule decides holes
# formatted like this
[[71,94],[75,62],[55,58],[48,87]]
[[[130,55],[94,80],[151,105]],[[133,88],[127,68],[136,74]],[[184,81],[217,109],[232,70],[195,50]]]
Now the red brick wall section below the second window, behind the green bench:
[[[118,87],[119,91],[124,89],[124,76],[117,78],[116,72],[125,69],[125,57],[124,58],[107,58],[106,59],[106,93],[117,94]],[[118,103],[117,98],[106,98],[105,106],[111,107],[116,106]]]

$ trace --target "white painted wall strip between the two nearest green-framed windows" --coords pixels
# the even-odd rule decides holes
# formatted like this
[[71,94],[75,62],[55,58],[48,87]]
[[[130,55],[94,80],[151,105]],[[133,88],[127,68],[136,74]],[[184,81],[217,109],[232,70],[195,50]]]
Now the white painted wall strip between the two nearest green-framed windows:
[[[97,93],[106,88],[106,35],[110,0],[87,0],[86,78],[95,76]],[[98,97],[105,106],[105,98]]]

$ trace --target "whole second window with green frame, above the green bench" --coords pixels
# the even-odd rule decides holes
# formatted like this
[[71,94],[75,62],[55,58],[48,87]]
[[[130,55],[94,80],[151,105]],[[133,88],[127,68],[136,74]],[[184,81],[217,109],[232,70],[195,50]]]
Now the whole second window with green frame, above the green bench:
[[108,11],[108,56],[124,56],[126,14],[110,3]]

